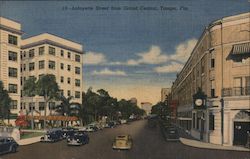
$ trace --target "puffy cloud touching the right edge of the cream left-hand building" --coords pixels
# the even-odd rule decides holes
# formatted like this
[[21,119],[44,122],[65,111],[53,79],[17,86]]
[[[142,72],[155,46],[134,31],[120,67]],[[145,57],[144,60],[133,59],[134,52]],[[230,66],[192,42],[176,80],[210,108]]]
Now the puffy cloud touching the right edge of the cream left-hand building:
[[105,64],[107,62],[105,55],[97,52],[87,52],[83,58],[83,64],[86,65]]

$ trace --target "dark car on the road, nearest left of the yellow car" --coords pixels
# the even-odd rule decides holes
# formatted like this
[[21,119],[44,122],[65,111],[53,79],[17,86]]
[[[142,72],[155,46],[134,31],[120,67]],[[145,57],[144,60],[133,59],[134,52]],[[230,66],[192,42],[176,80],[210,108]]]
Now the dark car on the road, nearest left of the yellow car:
[[83,131],[78,131],[74,135],[67,138],[68,145],[80,146],[89,143],[89,136]]

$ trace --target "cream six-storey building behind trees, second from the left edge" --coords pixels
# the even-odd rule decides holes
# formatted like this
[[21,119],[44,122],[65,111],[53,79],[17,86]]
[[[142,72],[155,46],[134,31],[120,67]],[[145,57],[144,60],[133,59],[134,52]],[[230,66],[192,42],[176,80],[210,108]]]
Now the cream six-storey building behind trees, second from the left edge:
[[[82,45],[61,37],[44,33],[22,40],[21,84],[30,77],[41,78],[53,74],[63,96],[73,96],[71,102],[82,103],[83,90],[83,48]],[[55,114],[60,102],[50,102],[47,112]],[[42,97],[22,97],[21,110],[32,109],[44,114],[45,103]]]

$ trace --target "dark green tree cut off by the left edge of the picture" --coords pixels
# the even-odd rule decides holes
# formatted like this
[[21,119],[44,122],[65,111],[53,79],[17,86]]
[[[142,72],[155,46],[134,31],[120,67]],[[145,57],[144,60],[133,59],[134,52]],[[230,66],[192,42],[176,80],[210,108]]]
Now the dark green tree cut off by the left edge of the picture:
[[11,98],[9,97],[8,91],[4,89],[3,82],[0,81],[0,118],[8,118],[8,122],[10,116],[10,103]]

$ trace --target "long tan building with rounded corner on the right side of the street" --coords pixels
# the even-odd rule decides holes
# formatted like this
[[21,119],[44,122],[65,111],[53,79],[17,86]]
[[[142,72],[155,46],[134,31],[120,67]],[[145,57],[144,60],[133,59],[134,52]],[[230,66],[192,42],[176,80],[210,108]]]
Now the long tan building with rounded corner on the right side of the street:
[[[244,145],[250,130],[250,13],[225,17],[203,31],[172,85],[178,124],[205,142]],[[194,109],[201,88],[205,109]]]

